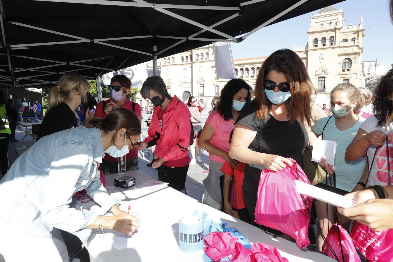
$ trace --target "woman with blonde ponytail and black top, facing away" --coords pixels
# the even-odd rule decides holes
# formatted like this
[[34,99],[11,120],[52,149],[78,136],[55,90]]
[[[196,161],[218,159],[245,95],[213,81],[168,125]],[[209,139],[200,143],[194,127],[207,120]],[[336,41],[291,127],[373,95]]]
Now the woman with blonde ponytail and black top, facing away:
[[[86,102],[89,91],[89,82],[78,73],[68,73],[60,77],[59,85],[50,90],[48,107],[37,135],[37,141],[55,132],[82,126],[75,110],[80,104]],[[86,119],[92,115],[86,112]]]

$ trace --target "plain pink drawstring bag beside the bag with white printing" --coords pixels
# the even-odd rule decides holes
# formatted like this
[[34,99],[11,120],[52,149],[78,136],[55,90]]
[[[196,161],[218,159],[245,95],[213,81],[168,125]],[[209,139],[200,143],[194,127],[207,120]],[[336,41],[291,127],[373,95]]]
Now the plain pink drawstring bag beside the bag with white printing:
[[[340,232],[340,238],[339,238]],[[341,240],[341,245],[340,245]],[[327,244],[327,242],[329,244]],[[329,246],[330,245],[330,246]],[[334,253],[332,252],[332,250]],[[341,252],[342,251],[342,252]],[[327,233],[326,240],[322,246],[323,254],[336,259],[340,262],[360,262],[360,258],[356,253],[355,246],[348,232],[341,225],[333,224]],[[335,254],[335,255],[334,255]]]

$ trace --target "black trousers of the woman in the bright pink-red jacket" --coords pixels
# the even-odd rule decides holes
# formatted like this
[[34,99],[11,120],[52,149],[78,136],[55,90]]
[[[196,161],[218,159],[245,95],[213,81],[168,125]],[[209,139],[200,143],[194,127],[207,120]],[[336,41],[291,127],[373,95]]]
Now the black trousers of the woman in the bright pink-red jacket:
[[170,187],[187,194],[185,191],[185,179],[187,178],[188,165],[184,167],[165,167],[157,169],[158,179],[167,182]]

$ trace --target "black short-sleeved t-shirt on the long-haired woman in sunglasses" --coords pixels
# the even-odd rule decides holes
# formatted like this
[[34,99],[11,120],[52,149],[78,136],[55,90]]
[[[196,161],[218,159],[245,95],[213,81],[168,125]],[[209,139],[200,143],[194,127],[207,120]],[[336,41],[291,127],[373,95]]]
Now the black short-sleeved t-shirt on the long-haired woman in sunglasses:
[[[256,103],[252,101],[243,107],[239,117],[237,117],[236,124],[257,131],[255,139],[248,147],[251,150],[293,158],[299,165],[303,164],[303,151],[307,145],[308,135],[305,128],[299,125],[298,120],[291,124],[290,121],[278,121],[270,114],[266,121],[264,118],[259,119]],[[261,169],[246,165],[243,181],[244,194],[257,198],[260,174]]]

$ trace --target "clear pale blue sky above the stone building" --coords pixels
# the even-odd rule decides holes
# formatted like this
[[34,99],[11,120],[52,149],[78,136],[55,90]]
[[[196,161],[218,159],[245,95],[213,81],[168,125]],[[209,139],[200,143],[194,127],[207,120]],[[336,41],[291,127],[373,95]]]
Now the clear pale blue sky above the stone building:
[[[378,64],[390,68],[393,63],[393,24],[388,0],[347,0],[333,6],[344,12],[345,25],[359,23],[363,13],[363,59],[378,59]],[[277,49],[305,46],[311,13],[264,27],[240,43],[231,43],[233,59],[267,56]],[[266,40],[265,40],[266,39]]]

